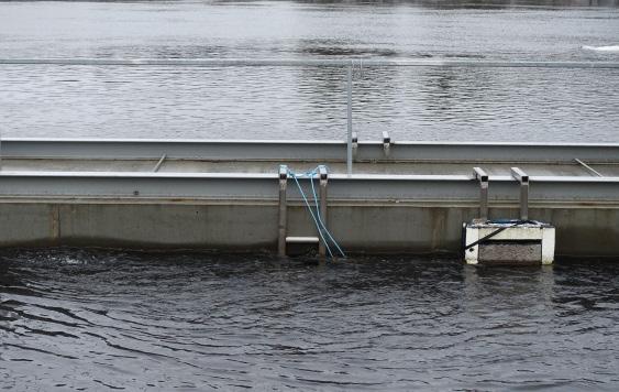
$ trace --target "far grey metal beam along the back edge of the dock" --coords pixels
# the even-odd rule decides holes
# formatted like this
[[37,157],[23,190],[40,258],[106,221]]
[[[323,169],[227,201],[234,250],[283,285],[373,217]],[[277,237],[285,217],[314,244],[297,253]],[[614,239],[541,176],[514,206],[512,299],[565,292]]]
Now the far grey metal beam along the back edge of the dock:
[[[345,162],[345,141],[321,140],[2,140],[3,159],[206,160]],[[575,164],[619,162],[619,144],[478,143],[391,141],[385,156],[382,141],[358,142],[356,161],[378,162],[542,162]]]

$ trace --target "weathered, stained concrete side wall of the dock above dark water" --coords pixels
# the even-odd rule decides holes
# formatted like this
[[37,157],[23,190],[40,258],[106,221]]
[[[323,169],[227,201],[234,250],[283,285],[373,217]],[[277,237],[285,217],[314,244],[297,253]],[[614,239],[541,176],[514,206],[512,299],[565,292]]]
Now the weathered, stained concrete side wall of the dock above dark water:
[[[338,204],[329,207],[333,236],[351,252],[452,252],[467,205]],[[517,208],[490,208],[516,218]],[[619,257],[619,208],[531,208],[532,219],[556,227],[557,255]],[[289,236],[317,236],[302,205],[288,210]],[[0,247],[93,246],[151,249],[270,251],[277,247],[277,205],[261,203],[0,203]]]

